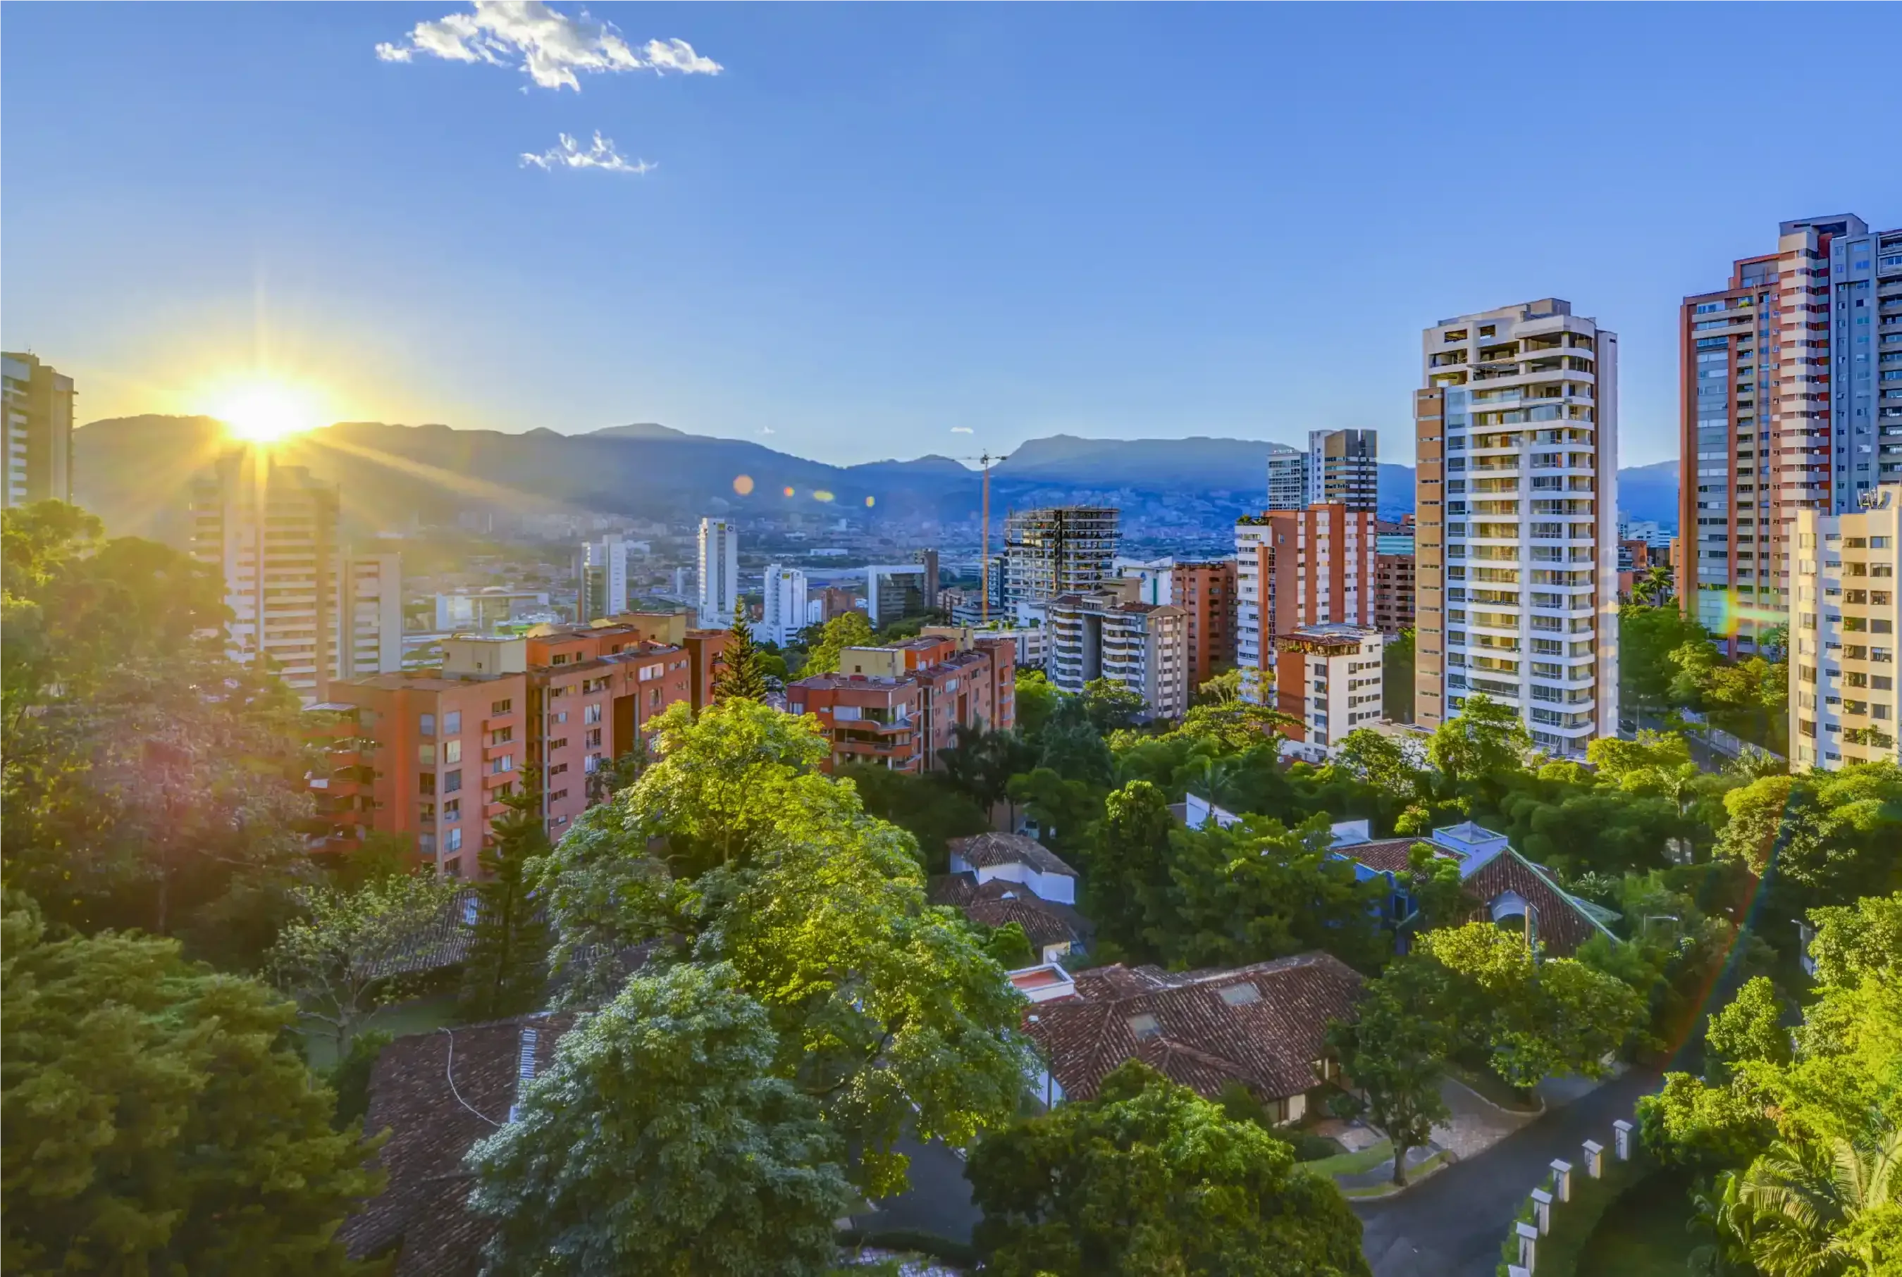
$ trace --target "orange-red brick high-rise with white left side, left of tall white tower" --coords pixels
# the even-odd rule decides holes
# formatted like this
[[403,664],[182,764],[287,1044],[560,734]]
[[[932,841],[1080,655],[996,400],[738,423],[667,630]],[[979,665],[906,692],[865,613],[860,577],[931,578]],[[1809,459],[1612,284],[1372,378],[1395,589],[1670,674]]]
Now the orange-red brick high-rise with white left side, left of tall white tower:
[[1373,623],[1373,511],[1339,504],[1236,521],[1234,663],[1248,699],[1269,701],[1276,635]]

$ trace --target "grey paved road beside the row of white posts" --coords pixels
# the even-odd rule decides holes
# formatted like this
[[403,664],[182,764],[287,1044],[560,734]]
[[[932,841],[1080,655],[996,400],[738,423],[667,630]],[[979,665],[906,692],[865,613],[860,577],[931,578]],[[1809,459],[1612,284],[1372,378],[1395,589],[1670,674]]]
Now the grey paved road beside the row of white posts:
[[1659,1081],[1632,1070],[1398,1197],[1356,1203],[1373,1277],[1491,1277],[1506,1226],[1546,1165],[1581,1165],[1584,1140],[1609,1150],[1611,1123],[1630,1117]]

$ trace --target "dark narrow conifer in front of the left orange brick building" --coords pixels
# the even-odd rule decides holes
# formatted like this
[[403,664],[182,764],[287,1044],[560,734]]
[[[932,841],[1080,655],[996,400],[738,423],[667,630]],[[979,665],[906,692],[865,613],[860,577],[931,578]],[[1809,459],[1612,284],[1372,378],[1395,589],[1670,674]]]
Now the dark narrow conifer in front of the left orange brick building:
[[481,849],[476,884],[476,931],[462,963],[462,1017],[495,1020],[542,1005],[548,986],[548,920],[529,893],[527,863],[550,851],[542,825],[542,791],[531,773],[519,792],[502,798],[493,842]]

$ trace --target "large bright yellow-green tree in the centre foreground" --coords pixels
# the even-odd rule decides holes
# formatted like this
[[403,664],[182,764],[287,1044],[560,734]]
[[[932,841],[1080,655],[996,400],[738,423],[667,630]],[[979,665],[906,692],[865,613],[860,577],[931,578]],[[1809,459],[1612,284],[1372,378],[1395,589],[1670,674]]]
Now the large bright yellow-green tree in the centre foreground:
[[1023,1089],[1018,994],[970,927],[924,901],[911,838],[816,770],[803,718],[727,701],[656,720],[658,762],[590,810],[536,867],[563,998],[611,996],[593,958],[658,943],[730,963],[763,1003],[774,1076],[814,1098],[879,1197],[903,1184],[907,1133],[968,1144]]

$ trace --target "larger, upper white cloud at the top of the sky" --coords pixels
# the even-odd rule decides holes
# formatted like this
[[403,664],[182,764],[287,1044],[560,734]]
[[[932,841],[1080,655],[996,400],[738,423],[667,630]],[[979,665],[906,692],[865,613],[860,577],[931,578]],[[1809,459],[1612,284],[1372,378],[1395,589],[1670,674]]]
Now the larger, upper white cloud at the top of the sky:
[[652,70],[664,74],[719,74],[721,65],[694,53],[685,40],[649,40],[635,49],[611,23],[597,23],[582,10],[569,17],[542,0],[472,0],[474,13],[451,13],[417,23],[396,44],[378,44],[377,57],[409,63],[418,53],[451,63],[514,67],[544,89],[580,91],[576,72]]

